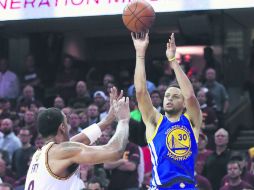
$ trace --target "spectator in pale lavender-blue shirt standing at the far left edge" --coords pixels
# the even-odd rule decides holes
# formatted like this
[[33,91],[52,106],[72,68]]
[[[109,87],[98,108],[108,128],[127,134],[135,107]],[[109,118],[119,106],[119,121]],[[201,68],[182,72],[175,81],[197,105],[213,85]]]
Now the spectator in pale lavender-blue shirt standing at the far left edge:
[[19,95],[17,75],[8,70],[8,60],[0,58],[0,98],[16,99]]

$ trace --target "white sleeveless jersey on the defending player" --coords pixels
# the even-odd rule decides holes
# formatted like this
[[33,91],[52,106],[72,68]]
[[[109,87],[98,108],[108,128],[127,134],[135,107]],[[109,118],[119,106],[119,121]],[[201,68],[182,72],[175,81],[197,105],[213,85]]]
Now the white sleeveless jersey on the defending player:
[[58,177],[51,172],[47,154],[53,144],[53,142],[48,143],[34,153],[27,172],[25,190],[81,190],[84,188],[79,168],[66,178]]

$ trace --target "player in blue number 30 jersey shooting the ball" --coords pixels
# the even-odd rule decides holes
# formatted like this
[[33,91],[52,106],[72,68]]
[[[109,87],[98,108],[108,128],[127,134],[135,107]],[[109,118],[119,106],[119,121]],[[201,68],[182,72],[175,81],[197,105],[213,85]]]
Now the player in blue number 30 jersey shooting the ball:
[[179,86],[171,85],[166,90],[164,116],[153,107],[146,87],[145,53],[149,44],[148,33],[136,36],[132,33],[132,40],[136,49],[136,97],[146,125],[146,138],[153,164],[150,187],[152,190],[196,190],[194,163],[202,114],[193,87],[175,58],[174,34],[167,43],[166,57]]

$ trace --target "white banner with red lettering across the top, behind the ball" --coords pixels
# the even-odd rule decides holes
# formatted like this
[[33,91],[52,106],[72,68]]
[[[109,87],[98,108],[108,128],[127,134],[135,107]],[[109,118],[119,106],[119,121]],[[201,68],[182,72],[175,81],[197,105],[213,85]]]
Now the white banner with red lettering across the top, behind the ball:
[[[132,0],[0,0],[0,21],[122,14]],[[254,0],[147,0],[155,12],[254,7]]]

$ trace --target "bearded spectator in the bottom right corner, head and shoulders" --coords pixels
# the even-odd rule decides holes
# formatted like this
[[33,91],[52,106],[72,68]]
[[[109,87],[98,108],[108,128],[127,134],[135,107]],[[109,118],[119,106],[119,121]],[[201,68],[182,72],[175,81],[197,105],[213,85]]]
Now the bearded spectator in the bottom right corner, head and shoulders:
[[237,161],[230,161],[227,164],[228,183],[220,190],[253,189],[253,186],[241,179],[241,166]]

